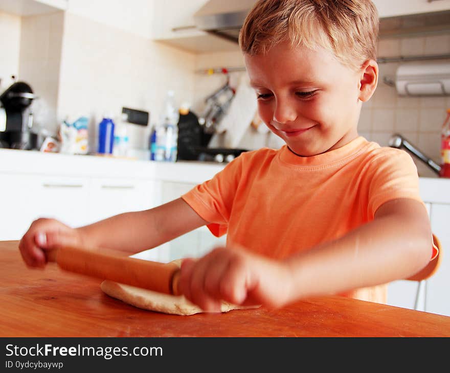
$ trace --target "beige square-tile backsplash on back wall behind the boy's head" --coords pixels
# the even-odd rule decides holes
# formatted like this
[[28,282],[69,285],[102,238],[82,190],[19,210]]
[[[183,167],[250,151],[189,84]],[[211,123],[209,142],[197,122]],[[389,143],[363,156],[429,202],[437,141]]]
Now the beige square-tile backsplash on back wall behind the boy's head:
[[[424,56],[450,54],[450,35],[381,39],[378,42],[379,57]],[[408,63],[408,62],[404,62]],[[395,87],[384,82],[384,78],[395,79],[400,63],[379,63],[378,87],[373,97],[364,103],[359,118],[359,134],[381,146],[388,146],[389,138],[400,133],[420,149],[425,155],[440,163],[440,131],[445,119],[446,109],[450,108],[450,97],[401,97]],[[197,57],[198,69],[220,66],[243,66],[242,56],[236,54],[206,54]],[[235,73],[234,80],[240,74]],[[233,75],[232,75],[233,76]],[[197,91],[205,92],[208,86],[219,85],[223,77],[199,77]],[[197,98],[199,98],[197,96]],[[197,101],[201,107],[201,101]],[[243,124],[246,125],[246,124]],[[220,136],[215,139],[220,145]],[[272,133],[261,134],[250,127],[239,144],[240,148],[257,149],[263,146],[278,148],[283,142]],[[437,174],[422,161],[413,156],[419,174],[436,177]]]

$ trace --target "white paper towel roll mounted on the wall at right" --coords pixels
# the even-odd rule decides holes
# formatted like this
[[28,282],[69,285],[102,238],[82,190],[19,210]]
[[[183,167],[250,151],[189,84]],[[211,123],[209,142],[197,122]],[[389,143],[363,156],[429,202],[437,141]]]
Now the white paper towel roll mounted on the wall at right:
[[400,65],[395,87],[400,96],[450,95],[450,62]]

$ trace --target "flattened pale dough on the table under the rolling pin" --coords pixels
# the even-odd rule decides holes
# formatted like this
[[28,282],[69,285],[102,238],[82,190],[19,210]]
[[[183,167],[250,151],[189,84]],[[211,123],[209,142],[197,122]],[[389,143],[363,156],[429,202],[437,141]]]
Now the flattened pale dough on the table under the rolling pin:
[[[181,260],[174,261],[181,265]],[[163,294],[148,289],[119,284],[105,280],[100,285],[103,292],[134,307],[144,310],[163,312],[173,315],[193,315],[204,312],[198,306],[192,304],[184,295],[175,296]],[[238,309],[257,308],[259,306],[238,306],[228,302],[222,302],[221,312]]]

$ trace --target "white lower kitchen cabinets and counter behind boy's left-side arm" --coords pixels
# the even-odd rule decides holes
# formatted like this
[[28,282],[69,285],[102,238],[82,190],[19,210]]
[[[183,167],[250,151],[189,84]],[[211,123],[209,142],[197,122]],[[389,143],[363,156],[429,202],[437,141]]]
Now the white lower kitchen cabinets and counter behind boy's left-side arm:
[[[223,165],[150,162],[0,149],[0,241],[19,240],[33,220],[82,226],[179,198]],[[224,244],[201,227],[137,257],[168,262]]]

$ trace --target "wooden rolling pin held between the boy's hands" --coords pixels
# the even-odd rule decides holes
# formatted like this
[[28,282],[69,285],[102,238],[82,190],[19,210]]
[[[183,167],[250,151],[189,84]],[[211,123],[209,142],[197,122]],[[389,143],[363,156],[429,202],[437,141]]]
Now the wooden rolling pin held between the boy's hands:
[[56,262],[66,271],[84,274],[160,293],[180,295],[179,267],[174,263],[150,262],[124,256],[122,251],[61,247],[47,253],[49,262]]

